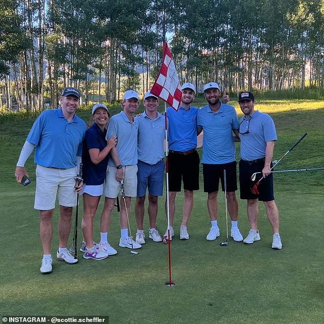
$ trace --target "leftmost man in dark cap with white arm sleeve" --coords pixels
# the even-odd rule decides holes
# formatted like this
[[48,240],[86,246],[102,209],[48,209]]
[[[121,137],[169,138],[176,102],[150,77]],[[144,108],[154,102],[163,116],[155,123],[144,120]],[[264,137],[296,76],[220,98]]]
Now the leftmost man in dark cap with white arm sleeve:
[[25,163],[34,147],[36,167],[36,194],[34,208],[39,210],[39,234],[43,248],[41,273],[52,272],[51,241],[52,217],[56,196],[60,204],[58,225],[59,248],[57,260],[77,263],[66,249],[71,230],[72,207],[77,202],[77,192],[83,183],[77,183],[82,155],[82,141],[86,125],[75,114],[80,105],[79,91],[73,87],[64,89],[60,97],[61,108],[43,111],[34,122],[21,150],[15,177],[21,182],[28,174]]

